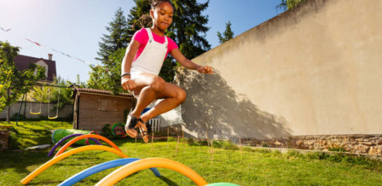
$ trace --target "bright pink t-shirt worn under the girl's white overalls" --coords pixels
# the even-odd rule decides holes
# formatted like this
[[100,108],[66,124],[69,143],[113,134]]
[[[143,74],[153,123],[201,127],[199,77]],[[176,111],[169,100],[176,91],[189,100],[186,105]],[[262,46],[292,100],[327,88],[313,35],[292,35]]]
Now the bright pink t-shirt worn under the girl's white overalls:
[[[158,36],[154,32],[151,32],[151,33],[153,33],[154,41],[156,41],[160,44],[165,43],[165,36]],[[146,46],[147,42],[149,41],[149,35],[147,34],[146,29],[142,28],[142,29],[139,29],[137,32],[135,32],[134,36],[132,36],[132,39],[134,39],[135,41],[138,41],[140,44],[138,51],[137,51],[137,54],[135,54],[135,58],[134,58],[134,61],[135,61],[135,60],[137,60],[139,55],[141,55],[144,47]],[[168,45],[167,45],[168,47],[167,47],[167,53],[165,55],[165,58],[167,58],[167,55],[170,51],[174,50],[175,48],[178,48],[177,44],[175,44],[175,41],[173,41],[170,37],[167,36],[167,40],[168,40]],[[163,59],[163,60],[165,60],[165,59]]]

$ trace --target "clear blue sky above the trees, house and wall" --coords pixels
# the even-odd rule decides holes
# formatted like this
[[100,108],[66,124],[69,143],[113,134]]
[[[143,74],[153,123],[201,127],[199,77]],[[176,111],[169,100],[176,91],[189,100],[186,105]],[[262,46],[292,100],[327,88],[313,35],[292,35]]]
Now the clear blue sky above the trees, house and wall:
[[[198,0],[199,1],[199,0]],[[212,48],[219,45],[217,32],[224,32],[226,22],[231,21],[234,36],[282,13],[275,6],[281,0],[210,0],[204,15],[209,16],[210,31],[206,38]],[[205,2],[200,0],[199,2]],[[0,0],[0,41],[20,46],[20,54],[35,58],[48,58],[53,53],[58,76],[70,81],[88,80],[90,67],[75,58],[55,53],[51,48],[86,60],[94,65],[105,27],[121,7],[125,16],[135,3],[132,0]],[[39,42],[36,46],[25,40]]]

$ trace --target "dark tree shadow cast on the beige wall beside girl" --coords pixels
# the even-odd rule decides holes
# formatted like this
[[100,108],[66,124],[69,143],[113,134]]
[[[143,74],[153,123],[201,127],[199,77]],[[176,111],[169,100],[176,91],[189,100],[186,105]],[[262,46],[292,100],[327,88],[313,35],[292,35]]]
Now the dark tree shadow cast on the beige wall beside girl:
[[[261,111],[246,95],[238,95],[219,72],[198,74],[179,69],[177,84],[187,92],[182,104],[186,136],[238,140],[238,138],[287,138],[284,118]],[[261,91],[261,90],[259,90]]]

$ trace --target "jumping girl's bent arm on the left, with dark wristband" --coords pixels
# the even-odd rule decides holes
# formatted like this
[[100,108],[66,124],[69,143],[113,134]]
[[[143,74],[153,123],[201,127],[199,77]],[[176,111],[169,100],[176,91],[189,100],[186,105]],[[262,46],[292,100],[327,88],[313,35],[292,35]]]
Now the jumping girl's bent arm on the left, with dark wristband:
[[[126,49],[125,57],[122,60],[121,74],[130,73],[130,68],[132,64],[132,60],[135,58],[135,54],[137,53],[139,48],[139,42],[132,39],[128,48]],[[121,77],[121,85],[122,88],[126,91],[134,90],[135,82],[130,79],[130,75],[125,75]]]

